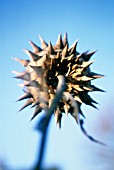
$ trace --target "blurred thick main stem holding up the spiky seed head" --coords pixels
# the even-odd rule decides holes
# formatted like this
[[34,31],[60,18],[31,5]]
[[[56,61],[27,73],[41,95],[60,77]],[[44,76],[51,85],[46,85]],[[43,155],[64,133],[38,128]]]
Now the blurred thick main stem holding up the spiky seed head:
[[41,138],[41,146],[40,146],[38,162],[37,162],[34,170],[42,169],[42,162],[43,162],[44,153],[45,153],[45,145],[46,145],[49,123],[51,120],[51,116],[54,113],[54,110],[57,107],[57,105],[62,97],[62,93],[65,91],[65,87],[66,87],[66,85],[65,85],[64,76],[59,75],[55,98],[53,99],[52,104],[51,104],[50,108],[48,109],[46,115],[43,117],[43,119],[38,124],[38,129],[40,129],[42,132],[42,138]]

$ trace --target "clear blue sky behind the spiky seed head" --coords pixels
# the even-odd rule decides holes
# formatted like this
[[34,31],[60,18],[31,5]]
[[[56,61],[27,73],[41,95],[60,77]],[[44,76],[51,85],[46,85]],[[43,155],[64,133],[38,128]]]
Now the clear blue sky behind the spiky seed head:
[[32,109],[18,113],[22,102],[15,101],[23,92],[11,71],[24,68],[11,58],[27,58],[22,49],[31,50],[29,40],[40,45],[38,34],[54,44],[58,34],[65,32],[70,45],[79,39],[78,51],[98,50],[91,68],[106,76],[93,84],[107,92],[91,94],[100,103],[99,110],[85,105],[82,108],[88,132],[109,147],[102,148],[86,139],[70,115],[64,116],[61,130],[53,118],[44,163],[63,170],[91,170],[91,166],[93,170],[101,169],[106,160],[97,156],[99,150],[113,152],[108,134],[100,132],[98,123],[104,115],[112,118],[114,114],[114,1],[0,0],[0,158],[14,169],[35,163],[40,134],[34,130],[37,119],[29,122]]

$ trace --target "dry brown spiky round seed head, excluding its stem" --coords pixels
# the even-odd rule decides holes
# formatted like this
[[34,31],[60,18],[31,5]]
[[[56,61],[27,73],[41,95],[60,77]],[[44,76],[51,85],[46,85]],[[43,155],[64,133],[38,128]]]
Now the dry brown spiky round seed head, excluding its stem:
[[[47,44],[41,36],[39,38],[41,48],[29,41],[33,52],[24,49],[30,60],[14,58],[26,68],[23,73],[15,72],[16,78],[23,80],[24,87],[24,95],[18,101],[27,99],[20,110],[29,105],[35,107],[31,120],[42,110],[46,111],[55,97],[58,76],[62,75],[65,78],[66,88],[54,110],[56,122],[60,127],[62,113],[64,112],[70,113],[78,121],[78,115],[84,116],[81,111],[82,103],[96,108],[94,104],[97,104],[97,102],[88,93],[103,91],[91,84],[92,80],[102,77],[102,75],[90,70],[90,65],[94,61],[89,60],[95,51],[90,53],[77,52],[77,41],[69,48],[66,33],[63,39],[61,34],[58,36],[54,46],[51,42]],[[75,104],[77,105],[78,115]]]

